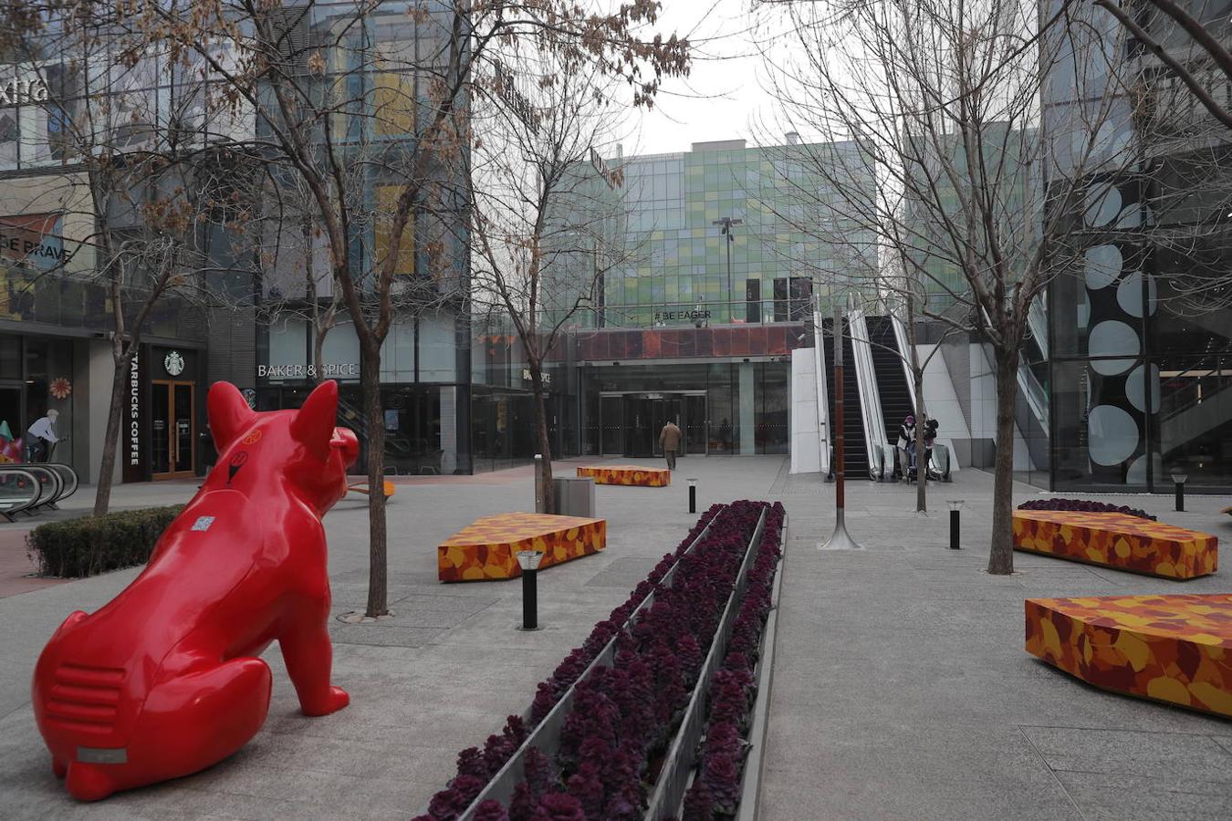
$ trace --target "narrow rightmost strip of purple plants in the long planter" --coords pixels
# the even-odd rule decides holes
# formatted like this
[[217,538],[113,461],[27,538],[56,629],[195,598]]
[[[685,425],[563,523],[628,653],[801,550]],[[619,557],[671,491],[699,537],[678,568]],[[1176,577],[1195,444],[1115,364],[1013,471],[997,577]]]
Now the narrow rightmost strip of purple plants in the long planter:
[[774,580],[782,556],[782,505],[766,515],[765,534],[749,570],[748,588],[732,628],[727,655],[715,673],[706,715],[706,736],[692,787],[685,794],[683,821],[711,821],[736,815],[740,804],[749,720],[756,699],[761,633],[770,615]]

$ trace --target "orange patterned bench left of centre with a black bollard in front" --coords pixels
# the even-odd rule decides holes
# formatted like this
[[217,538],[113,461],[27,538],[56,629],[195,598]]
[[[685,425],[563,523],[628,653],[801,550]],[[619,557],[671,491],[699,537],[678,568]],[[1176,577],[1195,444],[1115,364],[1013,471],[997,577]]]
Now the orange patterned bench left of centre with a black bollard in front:
[[606,547],[606,519],[547,513],[484,516],[436,548],[436,576],[441,581],[514,579],[522,575],[515,555],[519,550],[542,553],[542,570]]

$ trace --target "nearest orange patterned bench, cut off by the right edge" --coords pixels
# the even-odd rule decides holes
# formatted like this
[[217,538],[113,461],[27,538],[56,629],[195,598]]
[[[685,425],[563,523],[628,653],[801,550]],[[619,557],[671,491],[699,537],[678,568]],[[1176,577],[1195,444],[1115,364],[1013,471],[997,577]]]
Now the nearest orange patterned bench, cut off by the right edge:
[[1095,687],[1232,718],[1232,593],[1029,598],[1026,651]]

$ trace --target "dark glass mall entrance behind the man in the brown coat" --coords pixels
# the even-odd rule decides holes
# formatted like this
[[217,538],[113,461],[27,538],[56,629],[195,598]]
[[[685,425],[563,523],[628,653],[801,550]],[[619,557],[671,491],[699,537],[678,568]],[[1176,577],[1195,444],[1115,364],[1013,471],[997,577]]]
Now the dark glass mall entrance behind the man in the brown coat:
[[706,391],[600,393],[599,426],[604,455],[650,458],[663,455],[659,431],[668,420],[684,433],[680,455],[707,449]]

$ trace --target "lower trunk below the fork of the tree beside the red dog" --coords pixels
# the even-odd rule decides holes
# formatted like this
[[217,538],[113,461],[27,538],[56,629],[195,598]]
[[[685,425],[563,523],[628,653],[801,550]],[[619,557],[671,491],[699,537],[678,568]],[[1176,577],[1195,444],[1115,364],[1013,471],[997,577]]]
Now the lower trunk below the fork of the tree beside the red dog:
[[381,407],[381,342],[360,341],[360,391],[367,427],[368,463],[368,608],[376,618],[389,612],[384,497],[384,414]]

